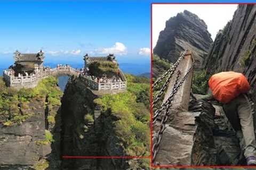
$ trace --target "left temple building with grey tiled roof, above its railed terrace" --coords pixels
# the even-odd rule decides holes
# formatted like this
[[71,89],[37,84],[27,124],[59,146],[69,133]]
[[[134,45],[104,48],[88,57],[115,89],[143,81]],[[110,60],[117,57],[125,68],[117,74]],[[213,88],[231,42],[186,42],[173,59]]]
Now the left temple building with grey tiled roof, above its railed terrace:
[[14,53],[14,66],[13,70],[15,76],[18,74],[34,73],[36,70],[43,69],[44,53],[42,50],[38,53],[21,54],[18,50]]

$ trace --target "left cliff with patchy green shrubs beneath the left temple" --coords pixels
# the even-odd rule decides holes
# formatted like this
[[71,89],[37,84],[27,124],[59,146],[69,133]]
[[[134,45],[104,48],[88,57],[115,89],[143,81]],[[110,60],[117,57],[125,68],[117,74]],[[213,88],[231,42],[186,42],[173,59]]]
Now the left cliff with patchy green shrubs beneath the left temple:
[[0,168],[60,168],[57,79],[34,89],[6,88],[0,80]]

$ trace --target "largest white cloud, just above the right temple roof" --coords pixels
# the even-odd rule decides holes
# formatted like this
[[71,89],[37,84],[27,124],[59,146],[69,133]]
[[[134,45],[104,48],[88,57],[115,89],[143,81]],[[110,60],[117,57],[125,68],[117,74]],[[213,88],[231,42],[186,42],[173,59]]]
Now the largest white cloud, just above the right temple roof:
[[126,55],[127,48],[123,43],[117,42],[113,47],[98,49],[97,52],[100,54]]

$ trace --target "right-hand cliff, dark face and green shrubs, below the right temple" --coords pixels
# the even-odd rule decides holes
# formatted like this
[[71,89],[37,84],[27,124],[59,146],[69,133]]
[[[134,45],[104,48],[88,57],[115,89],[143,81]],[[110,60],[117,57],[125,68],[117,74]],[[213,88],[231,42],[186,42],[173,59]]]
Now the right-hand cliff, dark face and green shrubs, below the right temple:
[[[92,91],[69,79],[62,98],[63,156],[149,156],[149,81],[128,78],[127,91]],[[140,169],[143,159],[63,159],[62,169]]]

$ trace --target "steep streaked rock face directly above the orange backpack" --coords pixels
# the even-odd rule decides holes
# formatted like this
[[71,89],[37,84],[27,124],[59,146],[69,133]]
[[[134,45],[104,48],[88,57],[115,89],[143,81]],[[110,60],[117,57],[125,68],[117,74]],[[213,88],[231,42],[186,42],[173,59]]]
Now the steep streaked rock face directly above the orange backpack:
[[233,19],[220,30],[205,58],[209,74],[236,71],[246,75],[254,89],[256,81],[256,5],[238,5]]

